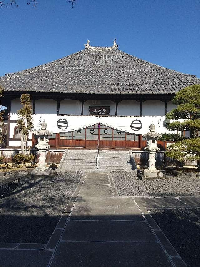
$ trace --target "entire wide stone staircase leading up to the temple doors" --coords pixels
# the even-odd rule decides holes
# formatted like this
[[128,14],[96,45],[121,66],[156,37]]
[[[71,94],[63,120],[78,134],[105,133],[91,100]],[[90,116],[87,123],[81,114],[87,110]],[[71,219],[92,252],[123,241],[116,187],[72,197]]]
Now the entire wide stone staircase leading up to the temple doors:
[[60,171],[111,172],[134,171],[128,150],[65,150],[58,167]]

